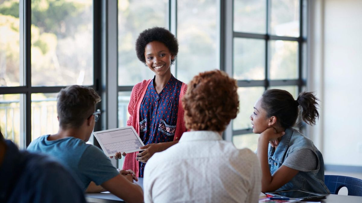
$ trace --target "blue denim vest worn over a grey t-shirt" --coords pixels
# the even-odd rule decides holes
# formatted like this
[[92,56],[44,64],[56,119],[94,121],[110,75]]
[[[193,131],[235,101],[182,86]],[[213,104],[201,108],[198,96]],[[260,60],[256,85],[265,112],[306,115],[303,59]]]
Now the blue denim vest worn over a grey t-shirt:
[[276,149],[269,144],[268,161],[270,173],[273,174],[282,166],[289,153],[300,149],[310,149],[316,154],[318,159],[317,169],[308,172],[299,171],[292,180],[278,190],[300,189],[315,193],[329,194],[330,192],[324,184],[324,162],[322,154],[314,146],[311,139],[293,128],[287,128],[285,130],[285,135],[282,136]]

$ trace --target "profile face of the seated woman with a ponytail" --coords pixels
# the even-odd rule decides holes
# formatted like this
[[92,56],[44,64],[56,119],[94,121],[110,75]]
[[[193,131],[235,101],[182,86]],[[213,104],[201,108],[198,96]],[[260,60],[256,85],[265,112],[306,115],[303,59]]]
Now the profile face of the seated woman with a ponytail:
[[251,124],[253,125],[253,133],[260,134],[264,132],[269,126],[268,122],[269,119],[266,117],[266,111],[264,108],[261,107],[261,99],[260,97],[255,105],[254,105],[254,112],[250,116]]

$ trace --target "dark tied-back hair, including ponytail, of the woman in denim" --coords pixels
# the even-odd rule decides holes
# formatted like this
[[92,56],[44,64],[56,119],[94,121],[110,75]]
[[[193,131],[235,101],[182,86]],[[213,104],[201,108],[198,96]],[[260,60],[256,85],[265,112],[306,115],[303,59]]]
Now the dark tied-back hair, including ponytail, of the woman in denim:
[[315,125],[319,118],[317,106],[319,101],[312,92],[301,92],[297,100],[285,90],[266,90],[262,95],[261,107],[267,112],[267,117],[276,116],[283,128],[295,125],[298,118],[298,105],[302,107],[302,119],[310,125]]

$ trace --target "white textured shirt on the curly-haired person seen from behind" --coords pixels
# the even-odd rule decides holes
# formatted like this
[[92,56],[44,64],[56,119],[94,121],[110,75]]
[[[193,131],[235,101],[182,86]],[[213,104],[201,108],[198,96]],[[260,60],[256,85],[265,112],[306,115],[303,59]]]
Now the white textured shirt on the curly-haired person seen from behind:
[[261,169],[251,150],[214,131],[190,131],[147,161],[143,189],[146,203],[258,202]]

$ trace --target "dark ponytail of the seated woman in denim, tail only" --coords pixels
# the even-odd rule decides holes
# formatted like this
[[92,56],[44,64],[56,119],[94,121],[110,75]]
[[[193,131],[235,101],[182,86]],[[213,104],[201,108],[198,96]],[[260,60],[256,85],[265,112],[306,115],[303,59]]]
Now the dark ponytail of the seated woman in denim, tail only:
[[299,94],[296,102],[302,107],[302,119],[309,125],[316,124],[316,118],[319,118],[317,106],[319,101],[312,92],[302,92]]

